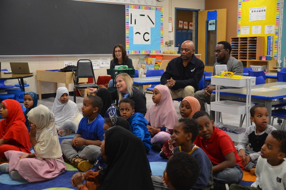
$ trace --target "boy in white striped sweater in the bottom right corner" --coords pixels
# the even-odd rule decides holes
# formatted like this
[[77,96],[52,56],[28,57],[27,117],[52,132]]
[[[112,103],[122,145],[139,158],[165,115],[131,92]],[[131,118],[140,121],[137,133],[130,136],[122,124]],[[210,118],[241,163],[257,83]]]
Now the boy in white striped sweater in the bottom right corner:
[[286,132],[272,131],[261,147],[255,167],[256,180],[250,187],[232,184],[229,189],[286,189]]

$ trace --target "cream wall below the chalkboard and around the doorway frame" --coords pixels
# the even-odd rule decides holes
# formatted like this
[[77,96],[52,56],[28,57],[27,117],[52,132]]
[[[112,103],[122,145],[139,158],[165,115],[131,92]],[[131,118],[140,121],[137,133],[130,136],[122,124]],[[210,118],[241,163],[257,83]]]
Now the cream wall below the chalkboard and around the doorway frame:
[[[25,0],[23,0],[25,1]],[[169,40],[168,33],[168,18],[172,17],[173,27],[175,27],[175,8],[188,8],[188,9],[201,9],[204,10],[205,0],[165,0],[163,2],[157,2],[157,6],[163,7],[163,41]],[[174,35],[174,34],[173,34]],[[173,36],[174,38],[174,36]],[[115,45],[115,44],[114,44]],[[166,45],[164,45],[166,46]],[[101,57],[110,57],[112,59],[112,49],[110,50],[110,55],[92,55],[92,56],[19,56],[19,57],[3,57],[0,56],[0,62],[2,69],[10,69],[9,62],[28,62],[30,71],[34,73],[33,77],[25,78],[24,80],[29,83],[30,87],[25,88],[25,90],[33,91],[38,93],[38,84],[36,80],[36,70],[47,70],[47,69],[61,69],[64,67],[64,61],[77,61],[80,58],[88,59],[100,59]],[[139,55],[129,55],[133,61],[133,66],[136,67],[139,61]],[[106,69],[100,68],[99,70],[94,70],[96,79],[98,76],[105,76]],[[5,82],[7,85],[18,83],[17,80],[7,80]],[[42,94],[49,94],[56,92],[56,83],[53,82],[41,82]],[[64,86],[62,84],[61,86]],[[69,85],[69,91],[73,91],[73,84]]]

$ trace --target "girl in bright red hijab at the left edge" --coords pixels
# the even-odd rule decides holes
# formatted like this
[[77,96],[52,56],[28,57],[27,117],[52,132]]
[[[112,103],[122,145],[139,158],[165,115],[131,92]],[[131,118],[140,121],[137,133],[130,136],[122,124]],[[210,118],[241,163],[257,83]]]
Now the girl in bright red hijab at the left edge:
[[25,116],[18,101],[6,99],[1,102],[0,115],[0,161],[5,160],[6,151],[30,153],[31,142]]

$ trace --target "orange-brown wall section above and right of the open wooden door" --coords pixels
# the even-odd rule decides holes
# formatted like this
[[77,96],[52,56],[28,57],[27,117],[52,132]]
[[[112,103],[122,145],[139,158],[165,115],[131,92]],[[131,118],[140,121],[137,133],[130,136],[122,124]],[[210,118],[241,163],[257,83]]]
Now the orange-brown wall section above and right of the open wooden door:
[[238,1],[205,0],[205,10],[212,10],[212,9],[227,9],[226,41],[230,42],[230,37],[237,36]]

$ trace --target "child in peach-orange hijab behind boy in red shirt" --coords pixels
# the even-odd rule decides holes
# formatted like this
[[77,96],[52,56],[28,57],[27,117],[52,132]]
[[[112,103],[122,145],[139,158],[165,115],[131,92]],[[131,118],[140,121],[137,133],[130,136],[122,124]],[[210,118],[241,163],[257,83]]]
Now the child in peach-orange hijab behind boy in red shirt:
[[[187,96],[181,101],[180,114],[182,118],[192,118],[196,112],[200,111],[200,109],[201,105],[197,98]],[[174,149],[175,146],[173,145],[173,140],[168,139],[162,146],[160,156],[169,159],[173,155]]]

